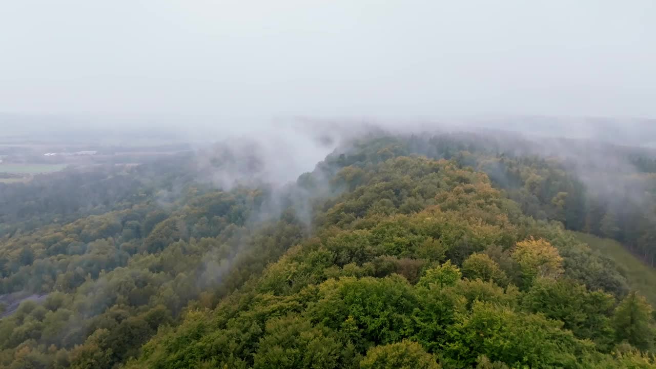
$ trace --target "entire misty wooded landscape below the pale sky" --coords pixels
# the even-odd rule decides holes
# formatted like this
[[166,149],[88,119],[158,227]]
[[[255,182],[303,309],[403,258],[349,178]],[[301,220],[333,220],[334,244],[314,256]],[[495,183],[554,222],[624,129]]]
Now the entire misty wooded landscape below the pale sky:
[[[651,126],[613,141],[586,119],[521,119],[125,127],[94,144],[24,125],[0,165],[47,170],[0,183],[0,360],[651,367]],[[488,319],[504,328],[467,338]],[[206,339],[228,341],[193,354]]]

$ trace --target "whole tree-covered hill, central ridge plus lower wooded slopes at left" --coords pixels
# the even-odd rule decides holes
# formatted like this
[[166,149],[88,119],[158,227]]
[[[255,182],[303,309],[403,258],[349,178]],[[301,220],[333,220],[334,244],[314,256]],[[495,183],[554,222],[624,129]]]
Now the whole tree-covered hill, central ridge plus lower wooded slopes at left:
[[566,229],[649,261],[653,158],[618,149],[645,170],[594,187],[541,154],[379,137],[282,189],[193,173],[162,206],[144,181],[130,206],[3,240],[0,293],[45,297],[0,320],[0,366],[655,368],[633,274]]

